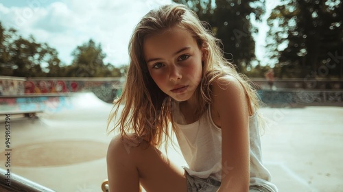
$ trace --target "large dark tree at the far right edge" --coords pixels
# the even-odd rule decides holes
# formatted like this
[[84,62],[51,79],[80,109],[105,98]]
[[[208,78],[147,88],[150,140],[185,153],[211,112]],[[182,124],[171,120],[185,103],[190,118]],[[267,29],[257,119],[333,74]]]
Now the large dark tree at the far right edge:
[[268,56],[281,77],[343,77],[342,1],[288,0],[268,19]]

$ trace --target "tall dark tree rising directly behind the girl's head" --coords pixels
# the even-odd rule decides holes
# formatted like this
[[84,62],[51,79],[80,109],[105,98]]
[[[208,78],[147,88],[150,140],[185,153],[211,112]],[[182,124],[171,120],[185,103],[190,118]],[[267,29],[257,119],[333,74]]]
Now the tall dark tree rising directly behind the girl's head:
[[257,28],[250,20],[260,20],[265,12],[264,0],[174,1],[187,5],[200,20],[211,25],[215,36],[222,40],[224,56],[235,63],[239,71],[245,71],[256,60],[252,34],[257,33]]

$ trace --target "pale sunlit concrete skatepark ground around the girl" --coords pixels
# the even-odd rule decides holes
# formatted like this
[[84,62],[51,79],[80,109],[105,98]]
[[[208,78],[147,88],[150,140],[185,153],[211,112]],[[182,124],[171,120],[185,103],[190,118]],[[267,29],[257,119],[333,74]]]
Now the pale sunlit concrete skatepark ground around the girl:
[[[58,110],[57,110],[58,109]],[[111,110],[92,93],[38,119],[11,118],[11,172],[56,191],[101,191],[107,178],[106,123]],[[343,108],[261,108],[263,160],[279,191],[343,191]],[[0,116],[5,168],[5,116]],[[169,149],[178,165],[184,160]],[[7,169],[7,168],[6,168]]]

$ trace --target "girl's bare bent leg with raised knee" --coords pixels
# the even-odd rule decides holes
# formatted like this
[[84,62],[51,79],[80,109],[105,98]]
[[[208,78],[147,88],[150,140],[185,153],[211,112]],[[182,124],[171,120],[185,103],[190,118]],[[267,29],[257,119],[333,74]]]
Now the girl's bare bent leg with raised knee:
[[130,147],[116,136],[108,146],[107,170],[111,192],[187,191],[185,171],[172,163],[155,147],[142,141]]

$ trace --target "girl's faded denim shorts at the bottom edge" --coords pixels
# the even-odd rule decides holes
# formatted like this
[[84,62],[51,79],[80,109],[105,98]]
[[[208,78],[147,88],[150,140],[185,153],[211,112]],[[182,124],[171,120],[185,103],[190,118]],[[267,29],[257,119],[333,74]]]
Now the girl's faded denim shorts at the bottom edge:
[[[187,178],[187,191],[188,192],[215,192],[219,189],[221,182],[214,178],[198,178],[196,176],[190,176],[186,172]],[[271,192],[262,186],[250,186],[249,192]]]

